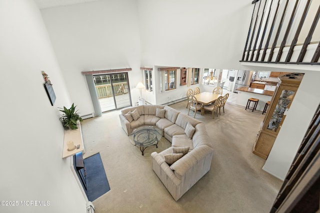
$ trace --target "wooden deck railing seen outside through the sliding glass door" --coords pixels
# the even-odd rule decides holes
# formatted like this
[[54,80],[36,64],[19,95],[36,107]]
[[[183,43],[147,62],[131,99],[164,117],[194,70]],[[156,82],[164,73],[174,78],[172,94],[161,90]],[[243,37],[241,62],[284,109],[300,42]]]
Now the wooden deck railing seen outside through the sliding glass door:
[[[122,95],[122,94],[128,93],[126,82],[113,83],[112,86],[113,86],[114,95]],[[98,99],[113,96],[111,84],[95,86],[95,90],[96,90],[96,94],[98,95]]]

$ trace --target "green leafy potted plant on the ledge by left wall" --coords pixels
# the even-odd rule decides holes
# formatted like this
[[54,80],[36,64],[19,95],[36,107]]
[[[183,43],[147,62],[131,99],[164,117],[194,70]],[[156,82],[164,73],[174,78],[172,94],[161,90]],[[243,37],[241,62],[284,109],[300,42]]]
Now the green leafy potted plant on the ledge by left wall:
[[77,129],[77,121],[81,121],[81,117],[77,113],[77,110],[75,111],[74,104],[72,103],[71,107],[67,109],[66,107],[59,108],[63,114],[60,117],[60,121],[62,122],[64,129]]

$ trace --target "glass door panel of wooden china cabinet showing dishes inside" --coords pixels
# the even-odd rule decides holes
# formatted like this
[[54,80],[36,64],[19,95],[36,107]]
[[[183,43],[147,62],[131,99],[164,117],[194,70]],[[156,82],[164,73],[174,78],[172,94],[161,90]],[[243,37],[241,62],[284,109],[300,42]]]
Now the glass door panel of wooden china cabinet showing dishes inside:
[[276,132],[278,127],[282,123],[283,114],[287,107],[289,107],[295,91],[292,90],[282,90],[281,95],[276,103],[272,116],[268,122],[267,129]]

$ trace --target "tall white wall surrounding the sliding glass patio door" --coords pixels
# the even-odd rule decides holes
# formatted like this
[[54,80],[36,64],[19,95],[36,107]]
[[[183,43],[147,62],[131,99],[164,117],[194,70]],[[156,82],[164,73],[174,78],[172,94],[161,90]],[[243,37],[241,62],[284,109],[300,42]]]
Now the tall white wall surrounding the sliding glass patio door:
[[81,71],[128,71],[132,104],[141,81],[140,41],[135,0],[101,0],[41,10],[72,102],[82,115],[93,112]]

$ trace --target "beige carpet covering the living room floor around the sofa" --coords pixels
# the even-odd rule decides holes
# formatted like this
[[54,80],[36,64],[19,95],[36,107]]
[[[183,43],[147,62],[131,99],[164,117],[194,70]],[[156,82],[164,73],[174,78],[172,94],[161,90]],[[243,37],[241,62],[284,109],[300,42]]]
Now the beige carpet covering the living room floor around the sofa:
[[[187,113],[186,102],[170,105]],[[195,118],[206,125],[214,148],[210,171],[177,202],[151,169],[150,153],[141,156],[122,130],[119,111],[82,121],[84,158],[100,152],[110,191],[93,202],[96,213],[267,213],[282,182],[261,168],[265,160],[252,154],[264,115],[226,103],[225,113],[212,119],[207,112]],[[193,112],[190,112],[193,117]]]

